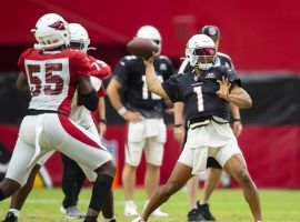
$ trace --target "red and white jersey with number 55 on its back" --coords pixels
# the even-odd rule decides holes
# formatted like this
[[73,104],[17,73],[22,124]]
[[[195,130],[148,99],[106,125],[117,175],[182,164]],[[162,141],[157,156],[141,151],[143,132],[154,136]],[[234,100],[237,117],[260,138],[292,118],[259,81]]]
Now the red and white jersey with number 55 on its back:
[[90,75],[86,53],[74,50],[42,52],[26,50],[18,62],[28,79],[31,93],[29,109],[70,114],[79,75]]

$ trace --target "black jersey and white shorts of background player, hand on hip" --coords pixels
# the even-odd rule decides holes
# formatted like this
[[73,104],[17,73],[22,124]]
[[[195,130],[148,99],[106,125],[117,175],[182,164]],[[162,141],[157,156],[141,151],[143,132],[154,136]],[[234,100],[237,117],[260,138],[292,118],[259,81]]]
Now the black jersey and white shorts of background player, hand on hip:
[[[171,61],[159,56],[154,61],[154,70],[161,81],[173,74]],[[162,119],[163,100],[148,91],[146,68],[142,59],[128,56],[121,59],[114,71],[114,79],[123,85],[124,101],[128,110],[139,112],[143,117],[140,122],[129,122],[126,162],[137,167],[144,148],[147,162],[161,165],[163,143],[167,139],[166,124]]]

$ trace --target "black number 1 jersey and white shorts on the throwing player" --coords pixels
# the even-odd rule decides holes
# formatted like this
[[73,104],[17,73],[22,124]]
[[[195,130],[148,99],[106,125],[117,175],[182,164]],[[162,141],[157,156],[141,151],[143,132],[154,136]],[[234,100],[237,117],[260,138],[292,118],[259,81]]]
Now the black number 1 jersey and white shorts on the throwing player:
[[206,170],[208,157],[213,157],[223,167],[230,157],[241,154],[229,125],[229,103],[216,94],[217,80],[222,77],[240,84],[234,71],[226,67],[213,67],[198,77],[189,71],[162,83],[172,102],[184,103],[187,142],[178,162],[191,167],[193,174]]

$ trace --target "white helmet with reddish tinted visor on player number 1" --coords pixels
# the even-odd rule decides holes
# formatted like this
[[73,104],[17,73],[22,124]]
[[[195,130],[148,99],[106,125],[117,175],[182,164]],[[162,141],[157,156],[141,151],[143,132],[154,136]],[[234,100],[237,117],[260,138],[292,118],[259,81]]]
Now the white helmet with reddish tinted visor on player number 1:
[[[217,58],[217,50],[212,39],[206,34],[193,36],[188,41],[186,48],[186,58],[192,67],[199,68],[201,70],[208,70],[212,68]],[[204,58],[207,61],[201,62],[200,58]]]

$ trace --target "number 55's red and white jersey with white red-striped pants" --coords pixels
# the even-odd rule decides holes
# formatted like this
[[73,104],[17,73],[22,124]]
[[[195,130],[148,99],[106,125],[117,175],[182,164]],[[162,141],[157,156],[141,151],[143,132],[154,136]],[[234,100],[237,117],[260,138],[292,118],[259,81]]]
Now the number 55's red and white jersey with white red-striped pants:
[[[28,79],[31,101],[6,178],[23,185],[34,164],[53,150],[92,173],[111,160],[98,133],[90,133],[69,119],[78,78],[89,77],[91,71],[87,54],[74,50],[29,49],[21,54],[18,64]],[[87,173],[89,179],[96,175]]]

